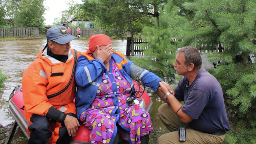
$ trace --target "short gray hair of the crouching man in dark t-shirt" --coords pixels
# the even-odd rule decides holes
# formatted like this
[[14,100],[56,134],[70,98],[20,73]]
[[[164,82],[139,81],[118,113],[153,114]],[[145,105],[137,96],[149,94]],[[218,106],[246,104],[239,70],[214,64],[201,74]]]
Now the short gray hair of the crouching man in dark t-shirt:
[[200,52],[195,47],[182,47],[176,51],[176,54],[184,53],[184,63],[188,66],[190,63],[194,64],[194,70],[197,72],[202,67],[202,58]]

